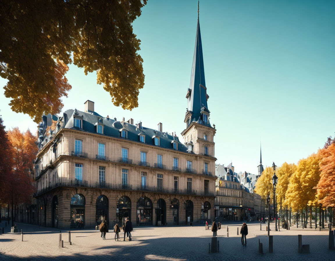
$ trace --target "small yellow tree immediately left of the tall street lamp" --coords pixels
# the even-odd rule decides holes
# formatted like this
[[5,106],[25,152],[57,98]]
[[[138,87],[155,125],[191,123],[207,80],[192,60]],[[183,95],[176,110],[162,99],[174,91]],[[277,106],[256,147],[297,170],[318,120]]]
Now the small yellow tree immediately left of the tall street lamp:
[[262,175],[257,179],[255,184],[255,192],[261,196],[263,200],[266,201],[267,196],[270,195],[270,198],[273,199],[273,185],[272,185],[272,176],[273,168],[266,167]]

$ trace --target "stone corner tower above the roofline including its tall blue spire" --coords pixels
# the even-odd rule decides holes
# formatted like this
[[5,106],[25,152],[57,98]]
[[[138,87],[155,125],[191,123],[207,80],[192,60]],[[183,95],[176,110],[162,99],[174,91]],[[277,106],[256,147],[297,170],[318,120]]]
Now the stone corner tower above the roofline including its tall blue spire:
[[[195,39],[190,87],[187,90],[187,110],[184,122],[186,128],[181,133],[188,146],[189,153],[214,157],[215,125],[210,124],[207,100],[207,88],[205,83],[204,60],[202,55],[202,43],[199,23]],[[214,161],[215,164],[215,161]],[[215,165],[214,165],[215,169]],[[214,171],[213,169],[213,171]]]

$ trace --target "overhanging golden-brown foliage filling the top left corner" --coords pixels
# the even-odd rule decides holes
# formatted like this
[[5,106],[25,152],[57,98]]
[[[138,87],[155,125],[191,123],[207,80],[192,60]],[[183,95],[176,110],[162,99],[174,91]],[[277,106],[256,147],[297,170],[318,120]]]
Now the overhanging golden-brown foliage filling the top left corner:
[[[112,102],[138,106],[144,85],[140,40],[132,22],[146,0],[5,0],[0,2],[0,76],[11,109],[39,122],[59,113],[71,86],[68,64],[96,71]],[[73,57],[73,60],[72,60]]]

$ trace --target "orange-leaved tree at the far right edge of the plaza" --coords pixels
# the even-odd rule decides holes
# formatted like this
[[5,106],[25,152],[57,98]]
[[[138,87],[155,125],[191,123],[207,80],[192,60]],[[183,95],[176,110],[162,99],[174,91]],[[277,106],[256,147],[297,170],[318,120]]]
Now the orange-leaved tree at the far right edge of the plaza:
[[319,150],[320,180],[317,186],[319,202],[324,207],[335,207],[335,144]]

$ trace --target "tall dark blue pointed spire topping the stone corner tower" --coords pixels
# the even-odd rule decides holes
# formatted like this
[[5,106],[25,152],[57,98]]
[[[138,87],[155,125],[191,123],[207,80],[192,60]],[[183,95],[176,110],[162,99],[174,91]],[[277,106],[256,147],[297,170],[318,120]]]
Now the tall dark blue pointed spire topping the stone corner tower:
[[[208,95],[206,93],[206,83],[205,83],[205,70],[204,70],[204,60],[202,55],[202,43],[201,43],[201,33],[200,33],[200,23],[199,23],[199,3],[198,3],[198,24],[197,33],[195,40],[195,48],[193,54],[193,63],[191,71],[191,82],[190,88],[188,89],[187,98],[187,112],[186,117],[191,118],[191,121],[196,121],[202,123],[203,117],[202,113],[206,112],[209,116],[209,110],[207,107]],[[185,120],[187,120],[185,118]],[[205,122],[209,125],[209,122]]]

